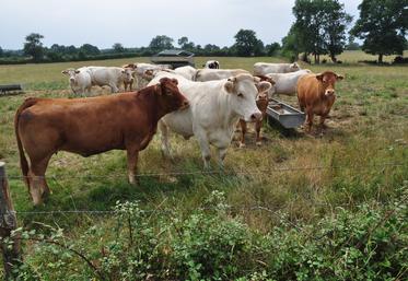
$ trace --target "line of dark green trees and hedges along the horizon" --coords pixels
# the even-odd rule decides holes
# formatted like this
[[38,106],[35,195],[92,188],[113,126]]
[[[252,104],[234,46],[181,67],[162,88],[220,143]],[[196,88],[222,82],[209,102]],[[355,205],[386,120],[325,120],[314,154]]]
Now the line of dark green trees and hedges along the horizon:
[[[125,48],[115,43],[112,48],[98,49],[91,44],[80,47],[54,44],[45,47],[43,35],[33,33],[25,37],[22,50],[2,50],[0,63],[54,62],[91,59],[110,59],[125,57],[152,56],[163,49],[179,47],[196,56],[284,56],[291,60],[302,59],[315,63],[320,56],[327,55],[333,62],[345,49],[362,49],[377,55],[378,62],[387,55],[403,55],[407,48],[408,0],[363,0],[359,5],[360,17],[350,26],[352,16],[339,0],[296,0],[292,9],[295,22],[282,43],[265,45],[252,30],[240,30],[235,43],[228,47],[214,44],[196,45],[188,37],[175,40],[166,35],[153,37],[147,47]],[[359,38],[362,46],[354,42]]]

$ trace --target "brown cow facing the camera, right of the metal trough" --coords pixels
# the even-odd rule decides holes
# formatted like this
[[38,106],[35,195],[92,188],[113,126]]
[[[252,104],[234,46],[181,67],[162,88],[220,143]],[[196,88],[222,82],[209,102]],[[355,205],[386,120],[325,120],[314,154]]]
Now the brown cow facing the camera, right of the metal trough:
[[331,71],[319,74],[305,74],[298,81],[298,101],[302,112],[306,114],[306,132],[310,132],[313,125],[313,116],[320,116],[320,128],[336,101],[335,83],[342,80]]

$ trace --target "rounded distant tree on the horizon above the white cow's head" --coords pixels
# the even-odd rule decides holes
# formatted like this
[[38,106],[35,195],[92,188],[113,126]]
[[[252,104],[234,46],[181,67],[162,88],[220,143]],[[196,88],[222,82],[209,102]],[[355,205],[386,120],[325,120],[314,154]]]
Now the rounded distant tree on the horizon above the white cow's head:
[[263,55],[264,43],[256,37],[256,33],[254,31],[240,30],[234,38],[234,48],[237,56],[249,57]]

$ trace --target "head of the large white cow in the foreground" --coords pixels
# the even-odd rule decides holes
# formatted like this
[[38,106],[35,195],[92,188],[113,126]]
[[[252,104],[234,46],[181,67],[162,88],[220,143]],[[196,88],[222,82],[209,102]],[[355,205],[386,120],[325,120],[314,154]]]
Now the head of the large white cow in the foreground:
[[231,94],[232,110],[245,121],[257,121],[263,118],[256,106],[258,92],[270,89],[269,82],[260,82],[258,78],[249,74],[238,74],[226,80],[224,87]]

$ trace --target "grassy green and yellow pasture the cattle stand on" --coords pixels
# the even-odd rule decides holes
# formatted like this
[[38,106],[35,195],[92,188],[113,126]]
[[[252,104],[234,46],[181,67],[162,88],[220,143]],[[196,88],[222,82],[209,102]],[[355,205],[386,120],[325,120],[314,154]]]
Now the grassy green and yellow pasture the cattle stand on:
[[[355,60],[358,52],[345,56],[349,56],[351,61]],[[345,62],[348,62],[348,58],[340,57]],[[196,58],[197,66],[207,59],[210,58]],[[220,61],[222,68],[247,70],[252,70],[257,61],[280,61],[278,58],[214,59]],[[0,161],[7,163],[18,211],[112,210],[118,200],[137,200],[141,209],[173,210],[183,220],[205,207],[206,198],[218,190],[224,194],[224,202],[233,210],[220,220],[240,218],[240,222],[257,235],[266,235],[281,226],[282,216],[291,224],[318,227],[320,220],[336,216],[339,210],[358,212],[361,204],[374,210],[392,203],[408,189],[408,68],[357,63],[304,65],[302,67],[314,72],[330,69],[346,77],[337,84],[338,97],[327,120],[328,129],[323,136],[305,136],[301,129],[288,134],[265,124],[261,147],[255,145],[254,133],[247,134],[244,149],[238,149],[234,140],[226,154],[225,172],[209,175],[199,173],[202,171],[202,161],[194,138],[186,141],[172,136],[174,160],[170,161],[162,159],[159,137],[155,136],[141,152],[138,166],[141,174],[158,175],[141,177],[138,187],[127,183],[124,151],[86,159],[59,152],[53,156],[47,169],[48,184],[54,194],[45,206],[34,208],[20,178],[13,128],[16,108],[28,96],[72,97],[68,79],[60,73],[66,68],[121,66],[133,61],[143,62],[148,58],[0,66],[0,84],[19,82],[25,86],[23,95],[0,96]],[[107,94],[107,90],[97,90],[96,93]],[[295,97],[280,98],[298,107]],[[218,168],[214,161],[212,166]],[[190,174],[166,175],[179,172]],[[252,207],[265,207],[268,211],[253,210]],[[272,211],[282,216],[272,214]],[[98,229],[114,225],[114,220],[108,216],[95,219],[88,214],[24,213],[19,215],[19,221],[21,225],[31,227],[39,227],[33,222],[55,227],[58,225],[73,238],[80,237],[91,224]],[[93,243],[96,245],[100,242],[89,241],[88,246]],[[27,245],[25,251],[28,256],[34,253],[33,248],[32,244]],[[33,267],[40,267],[40,257],[30,260]],[[77,262],[80,267],[80,261]],[[257,267],[263,272],[260,264]],[[395,276],[405,273],[396,272]],[[56,276],[49,273],[49,279],[43,280],[58,280]],[[189,277],[189,280],[198,279]]]

